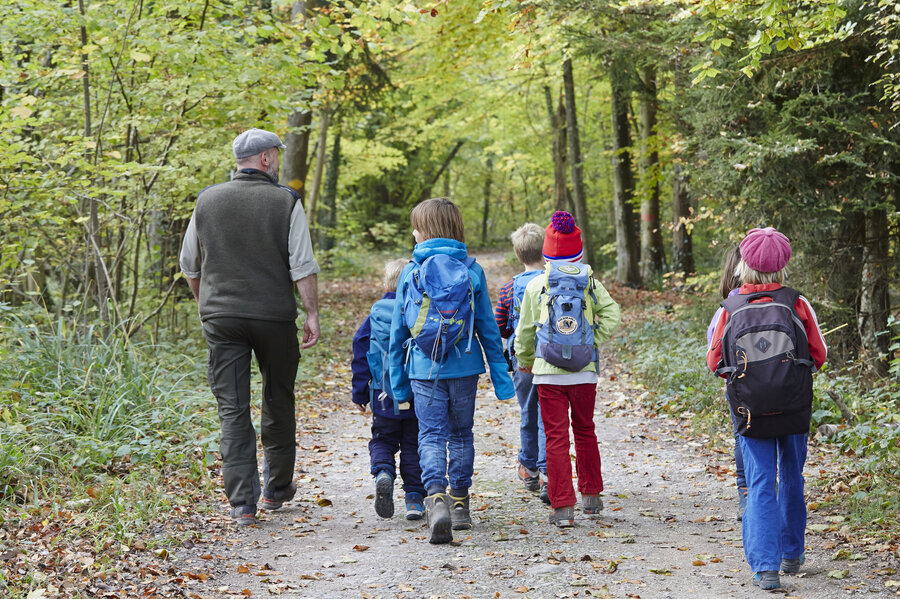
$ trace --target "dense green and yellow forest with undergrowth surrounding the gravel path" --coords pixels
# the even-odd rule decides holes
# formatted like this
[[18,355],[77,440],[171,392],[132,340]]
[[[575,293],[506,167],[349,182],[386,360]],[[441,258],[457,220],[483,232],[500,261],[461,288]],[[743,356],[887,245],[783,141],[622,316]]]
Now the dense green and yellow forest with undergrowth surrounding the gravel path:
[[234,136],[262,127],[286,142],[282,183],[303,196],[323,281],[407,254],[428,197],[462,208],[473,249],[509,251],[516,227],[570,210],[611,285],[696,300],[648,300],[621,357],[659,410],[706,410],[723,431],[701,341],[720,261],[748,229],[778,228],[829,344],[813,424],[860,458],[836,500],[896,535],[900,2],[0,11],[0,507],[16,518],[76,502],[118,538],[122,514],[177,501],[150,495],[174,480],[212,493],[215,415],[178,252]]

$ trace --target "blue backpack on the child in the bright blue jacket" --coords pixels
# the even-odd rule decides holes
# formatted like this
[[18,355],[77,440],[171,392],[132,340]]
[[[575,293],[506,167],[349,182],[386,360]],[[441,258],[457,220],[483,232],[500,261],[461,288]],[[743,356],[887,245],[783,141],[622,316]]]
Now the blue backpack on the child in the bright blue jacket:
[[416,264],[404,294],[403,316],[410,343],[438,364],[468,336],[466,353],[472,351],[475,328],[475,300],[469,267],[475,258],[464,261],[447,254],[435,254]]

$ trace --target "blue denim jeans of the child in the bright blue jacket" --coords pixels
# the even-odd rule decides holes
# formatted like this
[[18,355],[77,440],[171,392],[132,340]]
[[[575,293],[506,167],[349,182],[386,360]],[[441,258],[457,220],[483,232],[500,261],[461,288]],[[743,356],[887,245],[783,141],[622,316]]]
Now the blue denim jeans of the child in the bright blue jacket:
[[[475,391],[478,375],[437,381],[410,380],[419,419],[422,483],[456,489],[472,486],[475,469]],[[449,453],[449,459],[448,459]]]

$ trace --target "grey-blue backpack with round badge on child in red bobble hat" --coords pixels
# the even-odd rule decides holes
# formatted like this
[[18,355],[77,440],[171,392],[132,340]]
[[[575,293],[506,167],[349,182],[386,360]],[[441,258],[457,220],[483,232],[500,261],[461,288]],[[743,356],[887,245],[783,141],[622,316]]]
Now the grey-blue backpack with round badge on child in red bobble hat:
[[594,280],[587,264],[550,262],[547,286],[541,291],[547,320],[535,323],[537,357],[570,372],[580,372],[599,360],[594,347],[593,304],[588,304],[586,295],[596,303]]

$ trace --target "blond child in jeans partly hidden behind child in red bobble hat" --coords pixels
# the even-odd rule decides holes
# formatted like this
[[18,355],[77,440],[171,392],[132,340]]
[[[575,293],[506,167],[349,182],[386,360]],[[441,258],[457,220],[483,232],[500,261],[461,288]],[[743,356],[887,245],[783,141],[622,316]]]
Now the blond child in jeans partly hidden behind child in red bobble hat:
[[547,454],[544,441],[544,423],[538,406],[537,389],[533,375],[519,372],[515,352],[516,325],[522,310],[525,287],[534,277],[544,272],[544,230],[534,223],[525,223],[512,235],[513,250],[525,270],[500,288],[494,319],[500,327],[500,336],[506,339],[506,348],[512,360],[513,385],[519,400],[521,424],[519,425],[519,458],[517,475],[529,491],[540,490],[540,497],[550,503],[547,495]]

